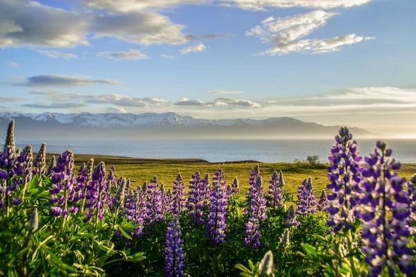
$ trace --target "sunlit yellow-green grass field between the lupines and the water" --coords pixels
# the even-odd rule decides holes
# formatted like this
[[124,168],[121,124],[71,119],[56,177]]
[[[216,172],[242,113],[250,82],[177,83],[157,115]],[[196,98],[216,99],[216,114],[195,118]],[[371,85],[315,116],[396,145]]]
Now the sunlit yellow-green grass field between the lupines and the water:
[[[55,155],[58,157],[58,155]],[[50,159],[51,154],[48,155]],[[201,175],[209,173],[212,177],[218,168],[222,168],[225,173],[225,180],[231,184],[236,176],[239,179],[241,195],[248,190],[250,170],[254,168],[254,162],[240,163],[209,163],[200,159],[136,159],[128,157],[111,157],[111,156],[94,156],[94,155],[77,155],[75,154],[76,164],[87,162],[89,158],[94,158],[95,162],[105,161],[107,168],[115,166],[116,176],[130,178],[132,186],[142,185],[144,181],[149,181],[151,177],[157,176],[159,182],[164,183],[166,188],[173,186],[173,181],[177,173],[181,173],[185,184],[196,170],[200,170]],[[320,190],[326,188],[327,164],[311,166],[308,163],[259,163],[261,175],[265,190],[267,191],[270,175],[274,170],[283,172],[286,181],[285,189],[288,193],[297,193],[297,186],[304,178],[312,177],[315,193],[318,197]],[[416,173],[416,164],[404,164],[399,175],[409,179]]]

